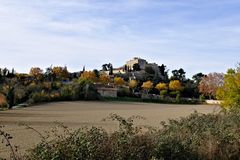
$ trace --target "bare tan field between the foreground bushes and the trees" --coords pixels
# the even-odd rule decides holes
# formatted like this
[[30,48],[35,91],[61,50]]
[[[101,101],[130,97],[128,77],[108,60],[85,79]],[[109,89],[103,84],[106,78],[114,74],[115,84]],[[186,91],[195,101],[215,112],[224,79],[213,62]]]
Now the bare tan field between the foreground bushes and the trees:
[[[211,113],[219,110],[219,107],[127,102],[58,102],[0,111],[0,124],[6,126],[5,130],[14,137],[13,143],[19,145],[23,151],[37,144],[40,138],[32,130],[19,126],[19,123],[26,123],[42,133],[53,127],[54,122],[62,122],[73,129],[81,126],[102,126],[108,131],[113,131],[117,128],[117,123],[102,121],[110,113],[123,117],[141,115],[146,120],[139,120],[137,124],[159,126],[161,121],[187,116],[195,110]],[[0,144],[0,157],[6,156],[6,151],[7,148]]]

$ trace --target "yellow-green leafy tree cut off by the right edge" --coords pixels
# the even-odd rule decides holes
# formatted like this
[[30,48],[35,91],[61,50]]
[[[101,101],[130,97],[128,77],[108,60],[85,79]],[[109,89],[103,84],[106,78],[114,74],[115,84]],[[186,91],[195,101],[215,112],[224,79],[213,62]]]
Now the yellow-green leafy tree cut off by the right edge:
[[223,100],[225,109],[240,107],[240,68],[228,70],[224,76],[224,85],[218,88],[216,97]]

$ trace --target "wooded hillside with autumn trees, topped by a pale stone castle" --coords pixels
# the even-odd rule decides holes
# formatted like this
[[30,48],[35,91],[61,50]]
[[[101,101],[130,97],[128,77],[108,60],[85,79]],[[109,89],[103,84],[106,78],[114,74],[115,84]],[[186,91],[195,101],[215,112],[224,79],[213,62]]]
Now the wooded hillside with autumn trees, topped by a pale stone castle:
[[51,66],[45,71],[32,67],[28,74],[3,68],[0,69],[0,105],[11,108],[22,103],[106,98],[200,103],[205,96],[215,96],[216,92],[199,87],[204,74],[197,73],[187,79],[182,68],[171,72],[170,77],[166,65],[137,57],[119,68],[106,63],[101,70],[86,71],[84,67],[73,73],[66,66]]

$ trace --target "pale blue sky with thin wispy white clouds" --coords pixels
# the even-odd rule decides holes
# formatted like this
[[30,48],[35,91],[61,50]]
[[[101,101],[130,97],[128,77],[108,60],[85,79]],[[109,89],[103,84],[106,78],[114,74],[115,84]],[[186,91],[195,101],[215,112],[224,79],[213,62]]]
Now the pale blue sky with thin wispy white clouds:
[[240,62],[240,0],[0,0],[0,67],[120,67],[133,57],[226,72]]

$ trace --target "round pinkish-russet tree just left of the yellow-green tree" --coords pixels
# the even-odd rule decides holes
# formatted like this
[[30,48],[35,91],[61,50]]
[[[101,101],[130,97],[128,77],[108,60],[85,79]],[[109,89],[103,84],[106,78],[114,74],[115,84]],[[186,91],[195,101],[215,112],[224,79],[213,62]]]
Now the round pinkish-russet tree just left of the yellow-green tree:
[[223,73],[210,73],[203,77],[199,83],[199,92],[205,96],[212,97],[216,96],[217,89],[222,87],[224,84],[224,74]]

